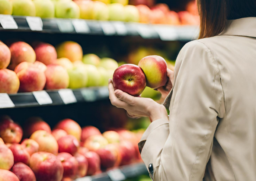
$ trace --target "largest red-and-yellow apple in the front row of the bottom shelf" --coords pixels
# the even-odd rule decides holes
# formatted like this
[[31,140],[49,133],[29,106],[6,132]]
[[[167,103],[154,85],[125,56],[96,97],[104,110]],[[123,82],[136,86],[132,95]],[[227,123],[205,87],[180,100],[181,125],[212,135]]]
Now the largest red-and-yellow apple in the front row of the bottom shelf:
[[63,177],[64,169],[61,161],[52,153],[34,153],[29,166],[35,173],[36,181],[61,181]]

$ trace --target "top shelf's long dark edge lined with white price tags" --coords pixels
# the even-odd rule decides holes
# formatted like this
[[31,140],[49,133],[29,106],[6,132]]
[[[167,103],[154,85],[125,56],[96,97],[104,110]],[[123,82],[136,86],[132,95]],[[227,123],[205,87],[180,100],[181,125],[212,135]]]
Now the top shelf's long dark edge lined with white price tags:
[[198,26],[152,25],[120,21],[95,21],[84,19],[41,19],[0,15],[0,30],[42,33],[71,33],[105,36],[141,36],[144,39],[163,41],[193,40],[198,35]]

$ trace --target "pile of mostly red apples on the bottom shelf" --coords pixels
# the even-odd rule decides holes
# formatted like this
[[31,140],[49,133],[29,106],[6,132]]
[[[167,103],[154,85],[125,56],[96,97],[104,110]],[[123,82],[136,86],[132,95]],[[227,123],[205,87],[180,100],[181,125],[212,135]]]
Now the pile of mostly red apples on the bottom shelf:
[[[8,116],[0,119],[1,181],[72,181],[125,164],[140,162],[138,142],[143,132],[81,128],[61,120],[51,131],[39,117],[22,130]],[[23,140],[22,140],[23,137]]]

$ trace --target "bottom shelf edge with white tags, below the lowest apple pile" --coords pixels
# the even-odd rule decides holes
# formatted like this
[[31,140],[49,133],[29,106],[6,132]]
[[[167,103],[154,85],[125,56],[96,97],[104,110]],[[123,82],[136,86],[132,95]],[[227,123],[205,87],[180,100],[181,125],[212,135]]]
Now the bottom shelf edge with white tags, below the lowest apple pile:
[[92,177],[77,178],[75,181],[124,181],[127,178],[135,178],[143,174],[148,174],[145,164],[136,163]]

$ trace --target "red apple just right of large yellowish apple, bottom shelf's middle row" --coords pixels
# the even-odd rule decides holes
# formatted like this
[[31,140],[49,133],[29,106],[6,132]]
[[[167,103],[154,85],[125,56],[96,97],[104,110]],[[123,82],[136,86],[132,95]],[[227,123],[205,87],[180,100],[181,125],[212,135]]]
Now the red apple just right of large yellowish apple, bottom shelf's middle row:
[[61,137],[57,142],[59,147],[59,153],[67,152],[71,155],[74,155],[79,147],[79,142],[77,138],[75,138],[73,135],[66,135],[64,137]]

